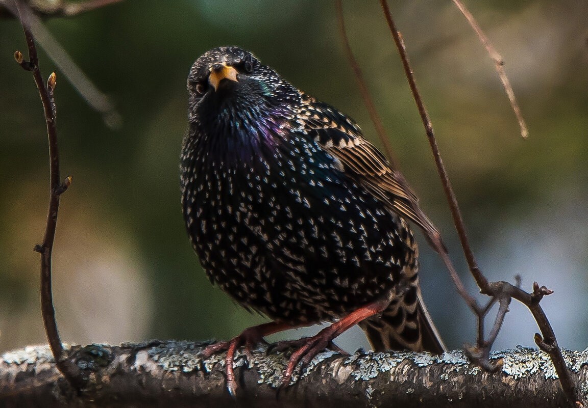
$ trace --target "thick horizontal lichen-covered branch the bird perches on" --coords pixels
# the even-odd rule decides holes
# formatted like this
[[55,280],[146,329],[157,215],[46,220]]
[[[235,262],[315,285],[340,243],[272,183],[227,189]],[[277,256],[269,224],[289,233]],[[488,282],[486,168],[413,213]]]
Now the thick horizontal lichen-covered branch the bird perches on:
[[[120,346],[66,348],[85,373],[86,385],[72,389],[48,346],[7,352],[0,358],[2,407],[557,407],[567,406],[549,356],[516,348],[494,352],[499,372],[488,373],[462,352],[325,351],[292,385],[279,388],[286,356],[259,349],[235,359],[240,388],[229,396],[223,355],[202,360],[208,343],[152,341]],[[588,350],[564,351],[584,404],[588,391]],[[248,362],[249,361],[249,362]]]

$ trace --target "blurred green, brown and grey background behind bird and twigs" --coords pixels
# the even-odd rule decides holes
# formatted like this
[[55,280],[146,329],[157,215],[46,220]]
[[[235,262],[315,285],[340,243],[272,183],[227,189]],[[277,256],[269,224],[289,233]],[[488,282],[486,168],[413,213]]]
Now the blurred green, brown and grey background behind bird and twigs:
[[[522,276],[543,300],[560,345],[588,345],[588,3],[471,2],[502,53],[529,125],[522,140],[492,61],[449,1],[393,2],[472,246],[494,280]],[[2,2],[0,1],[0,6]],[[345,2],[351,45],[400,167],[442,231],[470,290],[425,133],[376,1]],[[56,70],[62,196],[54,292],[62,339],[73,343],[227,339],[263,322],[213,288],[179,205],[179,150],[192,62],[219,45],[252,50],[290,82],[375,131],[360,99],[332,2],[126,0],[44,25],[112,100],[95,112]],[[48,199],[44,117],[15,19],[0,19],[0,352],[45,343],[38,300]],[[26,55],[26,53],[25,53]],[[421,282],[449,348],[475,341],[475,320],[419,236]],[[490,325],[490,322],[489,322]],[[316,328],[313,329],[316,331]],[[513,303],[496,348],[533,345],[536,325]],[[290,333],[291,336],[308,331]],[[275,337],[274,337],[275,338]],[[357,330],[339,341],[367,346]]]

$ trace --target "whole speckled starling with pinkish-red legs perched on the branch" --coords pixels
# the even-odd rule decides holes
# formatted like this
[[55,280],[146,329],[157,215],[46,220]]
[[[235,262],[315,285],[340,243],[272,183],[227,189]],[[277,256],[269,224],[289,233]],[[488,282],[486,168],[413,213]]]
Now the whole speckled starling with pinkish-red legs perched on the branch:
[[203,53],[187,87],[180,170],[192,247],[212,284],[270,319],[203,349],[226,350],[229,392],[240,346],[320,322],[330,325],[282,342],[295,348],[286,384],[356,324],[375,351],[444,352],[410,223],[439,232],[358,124],[237,46]]

